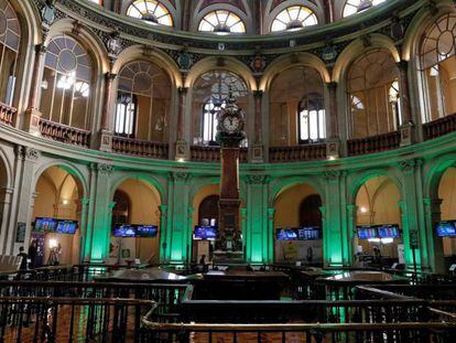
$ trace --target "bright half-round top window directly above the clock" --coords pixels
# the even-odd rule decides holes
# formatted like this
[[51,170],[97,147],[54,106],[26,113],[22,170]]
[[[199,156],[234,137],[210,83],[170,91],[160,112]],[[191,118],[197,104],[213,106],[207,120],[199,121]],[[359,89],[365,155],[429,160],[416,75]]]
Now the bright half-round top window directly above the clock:
[[217,10],[202,19],[198,31],[217,34],[245,33],[246,25],[239,15],[227,10]]

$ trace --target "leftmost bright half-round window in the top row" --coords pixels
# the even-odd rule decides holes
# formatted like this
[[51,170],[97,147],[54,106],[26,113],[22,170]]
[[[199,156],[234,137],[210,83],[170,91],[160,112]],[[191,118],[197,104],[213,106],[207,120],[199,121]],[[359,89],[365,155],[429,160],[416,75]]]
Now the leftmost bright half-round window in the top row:
[[152,25],[173,26],[173,17],[167,8],[156,0],[135,0],[128,10],[127,15],[142,19]]

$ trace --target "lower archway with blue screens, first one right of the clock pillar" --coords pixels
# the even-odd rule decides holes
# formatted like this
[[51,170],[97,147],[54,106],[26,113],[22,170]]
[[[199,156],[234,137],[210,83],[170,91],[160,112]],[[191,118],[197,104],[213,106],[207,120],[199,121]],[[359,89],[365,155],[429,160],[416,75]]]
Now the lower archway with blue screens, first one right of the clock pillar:
[[310,184],[284,189],[274,201],[274,261],[323,265],[322,197]]

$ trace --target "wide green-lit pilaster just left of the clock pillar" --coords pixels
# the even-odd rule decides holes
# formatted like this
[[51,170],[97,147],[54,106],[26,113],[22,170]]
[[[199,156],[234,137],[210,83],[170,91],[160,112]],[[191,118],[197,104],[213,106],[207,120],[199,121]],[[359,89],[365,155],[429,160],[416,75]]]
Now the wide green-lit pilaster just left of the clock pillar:
[[188,194],[192,175],[174,172],[169,175],[169,207],[166,225],[166,259],[172,264],[186,262],[191,251],[192,229],[188,224]]

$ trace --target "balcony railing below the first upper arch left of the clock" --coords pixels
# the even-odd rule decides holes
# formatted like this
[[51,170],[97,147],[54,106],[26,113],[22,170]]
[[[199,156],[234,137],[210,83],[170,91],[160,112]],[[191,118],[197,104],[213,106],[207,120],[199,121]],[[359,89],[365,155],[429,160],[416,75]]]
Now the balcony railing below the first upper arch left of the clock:
[[169,144],[116,136],[112,139],[112,151],[123,154],[167,160]]

